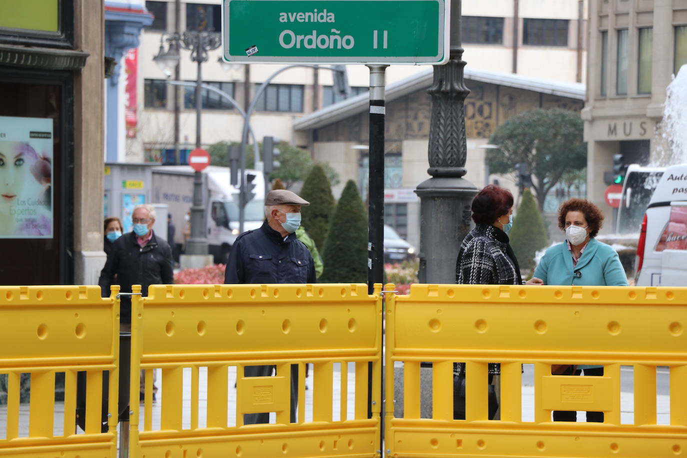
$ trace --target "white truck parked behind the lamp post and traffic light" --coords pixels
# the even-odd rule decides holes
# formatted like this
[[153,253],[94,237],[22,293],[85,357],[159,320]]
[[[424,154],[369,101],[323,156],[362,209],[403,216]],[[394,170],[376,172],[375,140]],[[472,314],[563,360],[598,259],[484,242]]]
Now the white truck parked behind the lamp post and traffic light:
[[[175,227],[174,244],[185,247],[190,232],[190,211],[193,205],[193,170],[188,165],[153,167],[153,202],[169,206]],[[257,229],[264,220],[264,179],[262,172],[254,174],[256,196],[245,208],[244,230]],[[238,188],[229,184],[229,168],[210,165],[203,170],[203,207],[205,236],[214,262],[227,262],[229,251],[238,236]]]

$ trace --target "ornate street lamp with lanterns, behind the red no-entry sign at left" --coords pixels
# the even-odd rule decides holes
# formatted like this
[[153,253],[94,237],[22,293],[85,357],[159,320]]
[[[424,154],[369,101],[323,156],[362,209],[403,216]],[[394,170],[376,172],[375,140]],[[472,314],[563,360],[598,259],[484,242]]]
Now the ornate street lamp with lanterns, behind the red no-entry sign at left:
[[[164,50],[165,41],[169,44]],[[160,49],[153,58],[158,67],[170,74],[171,68],[179,62],[179,48],[191,51],[191,60],[198,64],[196,78],[196,148],[201,147],[201,112],[203,110],[201,66],[207,62],[207,51],[217,49],[222,44],[220,34],[187,30],[182,34],[162,34]],[[203,175],[194,172],[193,205],[191,207],[191,237],[186,244],[186,253],[190,255],[207,255],[207,238],[205,238],[205,209],[203,208]]]

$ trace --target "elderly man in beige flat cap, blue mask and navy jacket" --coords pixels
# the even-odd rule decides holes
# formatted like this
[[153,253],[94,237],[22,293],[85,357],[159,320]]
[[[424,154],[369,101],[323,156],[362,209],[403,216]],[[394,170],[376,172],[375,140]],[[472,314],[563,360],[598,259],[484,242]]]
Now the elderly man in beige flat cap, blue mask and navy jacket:
[[[264,201],[260,229],[242,233],[229,254],[225,283],[315,283],[315,263],[296,238],[302,205],[310,205],[291,191],[273,190]],[[245,377],[269,377],[274,366],[247,366]],[[295,422],[298,367],[291,369],[291,422]],[[249,413],[244,424],[269,423],[269,413]]]

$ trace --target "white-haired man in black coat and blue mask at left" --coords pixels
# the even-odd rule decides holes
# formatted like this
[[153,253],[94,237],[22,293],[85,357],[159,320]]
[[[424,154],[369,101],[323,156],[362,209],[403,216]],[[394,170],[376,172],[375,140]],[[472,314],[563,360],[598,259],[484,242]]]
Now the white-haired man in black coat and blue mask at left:
[[[131,285],[140,284],[142,295],[148,295],[148,286],[173,284],[172,251],[167,242],[153,233],[155,208],[137,205],[132,214],[133,231],[125,233],[112,244],[98,285],[102,297],[109,297],[115,275],[121,293],[131,293]],[[122,296],[120,302],[122,330],[131,329],[131,297]]]

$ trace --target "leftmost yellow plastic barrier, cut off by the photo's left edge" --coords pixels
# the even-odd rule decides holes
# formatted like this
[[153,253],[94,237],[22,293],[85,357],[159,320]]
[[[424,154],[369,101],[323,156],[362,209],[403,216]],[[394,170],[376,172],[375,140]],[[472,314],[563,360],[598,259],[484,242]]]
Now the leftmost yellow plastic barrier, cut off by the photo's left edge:
[[[113,287],[113,296],[103,299],[98,286],[0,286],[0,374],[8,380],[0,455],[115,457],[116,408],[109,431],[100,431],[104,371],[109,371],[108,405],[117,406],[117,292]],[[78,371],[87,372],[86,431],[80,434],[75,429]],[[27,409],[20,404],[29,378],[23,374],[30,374]],[[65,378],[63,409],[55,402],[56,374]],[[22,382],[26,386],[20,387]]]

